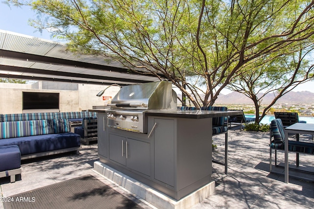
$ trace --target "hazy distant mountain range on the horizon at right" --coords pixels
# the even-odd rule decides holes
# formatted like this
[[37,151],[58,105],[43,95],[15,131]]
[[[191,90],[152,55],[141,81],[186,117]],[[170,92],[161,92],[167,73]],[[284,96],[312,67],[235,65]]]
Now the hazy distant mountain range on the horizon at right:
[[[258,95],[259,97],[262,94]],[[181,98],[181,94],[178,94]],[[266,94],[262,99],[262,104],[269,104],[275,98],[274,93]],[[219,94],[216,104],[253,104],[252,100],[242,93],[232,92],[228,94]],[[276,104],[314,104],[314,93],[308,91],[302,92],[288,92]]]

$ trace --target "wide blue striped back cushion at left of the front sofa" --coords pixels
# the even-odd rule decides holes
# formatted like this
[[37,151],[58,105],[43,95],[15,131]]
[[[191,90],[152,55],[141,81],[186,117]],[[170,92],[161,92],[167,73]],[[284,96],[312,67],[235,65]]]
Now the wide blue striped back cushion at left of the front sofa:
[[0,122],[0,139],[52,134],[52,120]]

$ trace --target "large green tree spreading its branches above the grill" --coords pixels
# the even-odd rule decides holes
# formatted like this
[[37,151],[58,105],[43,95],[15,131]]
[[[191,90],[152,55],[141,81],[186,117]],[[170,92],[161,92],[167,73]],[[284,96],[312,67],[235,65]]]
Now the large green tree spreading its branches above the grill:
[[164,74],[196,107],[212,105],[245,66],[314,33],[313,0],[7,1],[30,5],[33,26],[72,51]]

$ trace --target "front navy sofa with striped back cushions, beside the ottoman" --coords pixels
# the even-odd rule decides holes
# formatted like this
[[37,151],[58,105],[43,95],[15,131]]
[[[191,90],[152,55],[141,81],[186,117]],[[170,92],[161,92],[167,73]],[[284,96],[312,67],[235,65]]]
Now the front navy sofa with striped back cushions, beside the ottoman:
[[0,147],[18,145],[21,160],[70,151],[78,154],[80,137],[70,129],[68,119],[0,122]]

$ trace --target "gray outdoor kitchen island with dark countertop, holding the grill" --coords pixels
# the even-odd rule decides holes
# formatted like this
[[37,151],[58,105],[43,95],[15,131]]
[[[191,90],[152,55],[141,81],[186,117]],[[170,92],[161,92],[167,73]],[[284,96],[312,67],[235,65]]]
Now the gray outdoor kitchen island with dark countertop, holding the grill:
[[[98,114],[100,161],[176,201],[199,189],[205,192],[201,194],[204,198],[214,191],[212,118],[239,112],[144,110],[147,131],[137,133],[109,126],[110,110],[93,111]],[[118,119],[125,113],[114,114]],[[115,123],[122,126],[124,121],[128,119]]]

